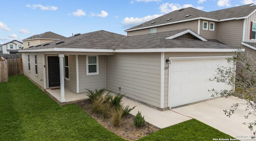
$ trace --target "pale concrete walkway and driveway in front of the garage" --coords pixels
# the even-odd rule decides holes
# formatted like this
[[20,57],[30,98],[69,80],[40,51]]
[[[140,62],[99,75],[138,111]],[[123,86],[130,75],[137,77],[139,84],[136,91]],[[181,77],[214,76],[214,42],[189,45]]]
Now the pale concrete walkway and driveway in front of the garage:
[[234,97],[216,98],[167,111],[159,111],[138,102],[129,100],[128,98],[123,98],[123,103],[125,106],[136,106],[136,108],[132,110],[130,114],[135,116],[139,110],[142,116],[144,116],[146,122],[155,125],[160,129],[195,118],[207,125],[210,125],[211,127],[214,127],[215,129],[218,129],[219,131],[222,131],[223,133],[238,139],[241,139],[239,136],[242,135],[253,135],[250,129],[248,129],[246,125],[242,124],[243,122],[247,123],[255,120],[252,118],[253,115],[249,119],[245,119],[244,116],[247,115],[245,106],[239,107],[235,111],[235,114],[230,116],[230,118],[224,114],[223,110],[229,110],[233,104],[244,103],[244,101]]

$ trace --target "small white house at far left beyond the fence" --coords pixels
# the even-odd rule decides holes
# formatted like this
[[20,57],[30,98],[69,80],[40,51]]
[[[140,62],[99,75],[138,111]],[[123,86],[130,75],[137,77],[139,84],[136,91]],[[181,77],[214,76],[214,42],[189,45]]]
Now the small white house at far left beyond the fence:
[[8,43],[2,45],[3,54],[16,54],[22,48],[22,42],[17,40],[12,40]]

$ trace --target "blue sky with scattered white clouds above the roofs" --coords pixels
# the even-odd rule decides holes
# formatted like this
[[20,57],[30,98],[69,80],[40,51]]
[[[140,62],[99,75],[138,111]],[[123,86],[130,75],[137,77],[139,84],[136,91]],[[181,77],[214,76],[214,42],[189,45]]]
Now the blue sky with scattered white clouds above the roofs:
[[256,3],[256,0],[1,0],[0,44],[47,31],[72,36],[124,30],[174,10],[206,12]]

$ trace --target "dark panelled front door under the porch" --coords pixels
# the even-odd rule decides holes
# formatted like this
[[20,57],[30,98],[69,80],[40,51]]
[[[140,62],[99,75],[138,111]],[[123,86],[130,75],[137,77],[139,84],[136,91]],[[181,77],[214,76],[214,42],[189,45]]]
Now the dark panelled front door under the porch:
[[48,56],[49,87],[60,86],[60,62],[58,56]]

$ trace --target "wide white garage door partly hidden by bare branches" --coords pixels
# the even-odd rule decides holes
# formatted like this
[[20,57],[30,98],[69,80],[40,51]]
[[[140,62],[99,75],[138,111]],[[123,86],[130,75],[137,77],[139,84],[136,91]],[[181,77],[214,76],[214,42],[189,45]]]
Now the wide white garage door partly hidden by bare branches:
[[224,83],[210,82],[219,66],[233,67],[227,63],[226,57],[186,57],[175,59],[170,57],[170,107],[181,106],[193,102],[207,100],[212,94],[208,90],[231,89]]

